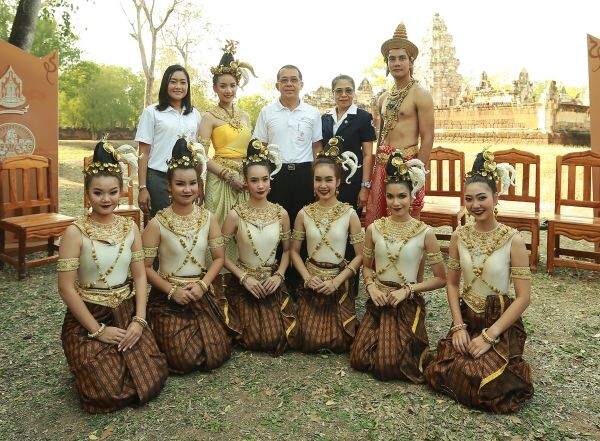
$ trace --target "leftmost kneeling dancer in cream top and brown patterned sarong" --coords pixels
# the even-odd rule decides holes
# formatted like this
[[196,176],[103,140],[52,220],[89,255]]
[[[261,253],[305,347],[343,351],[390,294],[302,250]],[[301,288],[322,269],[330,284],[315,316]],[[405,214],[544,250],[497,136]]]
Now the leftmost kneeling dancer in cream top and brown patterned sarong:
[[58,256],[58,292],[68,307],[61,340],[90,413],[145,403],[158,395],[168,375],[146,322],[140,232],[132,219],[113,213],[123,185],[121,156],[137,165],[130,146],[96,145],[84,170],[92,212],[67,228]]

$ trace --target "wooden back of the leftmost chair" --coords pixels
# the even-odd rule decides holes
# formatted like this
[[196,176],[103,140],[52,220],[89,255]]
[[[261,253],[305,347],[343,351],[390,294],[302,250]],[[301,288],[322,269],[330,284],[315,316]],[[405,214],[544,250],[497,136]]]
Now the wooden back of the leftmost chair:
[[[51,160],[37,155],[20,155],[0,162],[0,219],[32,212],[56,212],[50,197]],[[7,197],[5,197],[5,195]]]

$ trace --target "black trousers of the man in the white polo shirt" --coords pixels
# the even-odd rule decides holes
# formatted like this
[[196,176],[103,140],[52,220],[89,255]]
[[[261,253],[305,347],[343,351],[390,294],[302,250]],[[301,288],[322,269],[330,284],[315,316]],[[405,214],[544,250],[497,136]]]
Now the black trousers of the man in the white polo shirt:
[[[305,205],[314,201],[312,185],[312,163],[301,162],[296,164],[283,164],[281,171],[275,175],[271,183],[269,201],[281,205],[290,216],[290,227],[294,229],[296,215]],[[302,244],[300,255],[303,259],[308,256],[306,252],[306,241]],[[278,258],[281,256],[281,249]],[[296,299],[296,287],[300,283],[300,275],[290,265],[285,273],[286,284]]]

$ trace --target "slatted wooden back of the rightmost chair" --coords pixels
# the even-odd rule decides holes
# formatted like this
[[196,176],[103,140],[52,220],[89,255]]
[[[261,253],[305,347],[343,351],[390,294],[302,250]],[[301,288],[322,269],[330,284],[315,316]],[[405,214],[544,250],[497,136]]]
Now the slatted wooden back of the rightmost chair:
[[[582,169],[581,179],[577,178],[577,169]],[[583,152],[567,153],[556,157],[556,193],[554,197],[554,213],[561,214],[563,206],[587,207],[600,209],[600,201],[594,201],[592,191],[592,169],[600,170],[600,153],[586,150]],[[563,171],[566,169],[567,191],[563,198]],[[577,190],[577,182],[581,183],[581,191]]]

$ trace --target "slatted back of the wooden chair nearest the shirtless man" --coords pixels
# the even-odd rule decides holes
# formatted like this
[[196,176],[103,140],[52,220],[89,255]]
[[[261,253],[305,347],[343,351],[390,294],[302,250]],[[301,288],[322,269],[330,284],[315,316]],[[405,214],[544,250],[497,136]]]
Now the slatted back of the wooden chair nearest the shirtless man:
[[[444,172],[444,162],[448,163],[448,174]],[[430,173],[425,180],[425,194],[427,196],[447,196],[460,198],[465,196],[463,178],[465,176],[465,154],[458,150],[436,147],[431,150],[427,170]],[[457,174],[458,171],[458,174]],[[433,177],[435,176],[435,183]],[[448,188],[444,188],[444,183]]]

